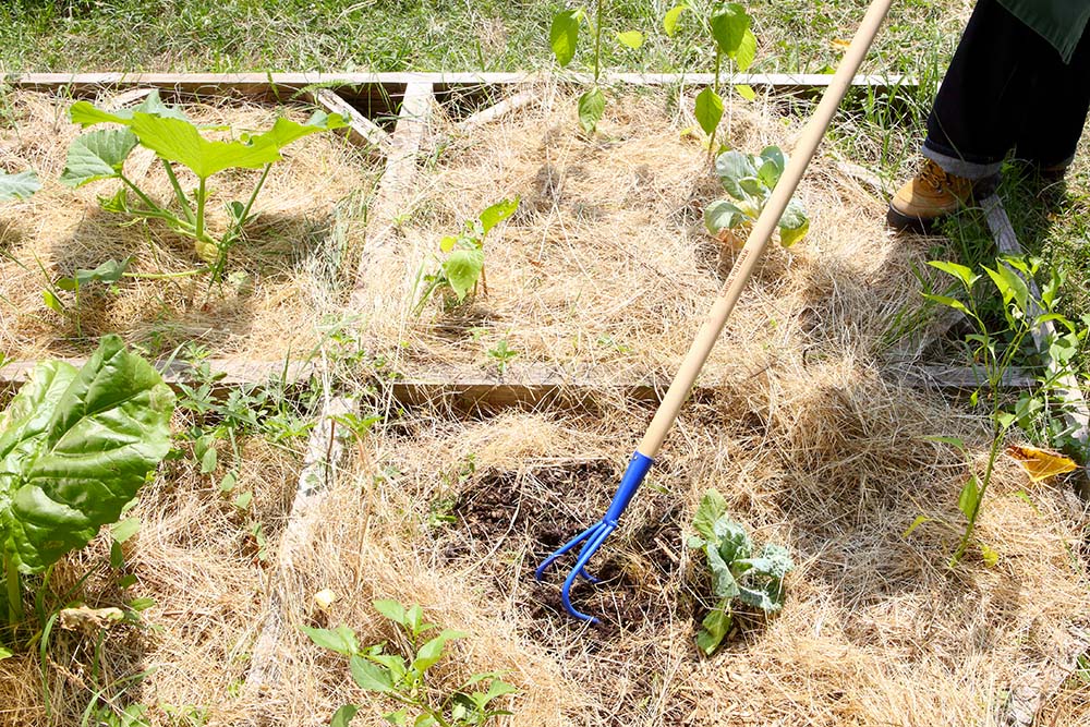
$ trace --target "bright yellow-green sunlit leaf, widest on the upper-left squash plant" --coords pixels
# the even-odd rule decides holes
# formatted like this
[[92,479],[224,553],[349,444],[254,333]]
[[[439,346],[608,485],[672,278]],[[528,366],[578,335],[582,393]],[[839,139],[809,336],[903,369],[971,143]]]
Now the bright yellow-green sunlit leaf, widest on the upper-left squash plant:
[[258,169],[281,159],[280,150],[308,134],[344,125],[338,114],[315,114],[300,124],[277,119],[272,129],[241,142],[208,141],[197,128],[181,119],[135,112],[129,122],[140,143],[168,161],[184,165],[201,179],[225,169]]

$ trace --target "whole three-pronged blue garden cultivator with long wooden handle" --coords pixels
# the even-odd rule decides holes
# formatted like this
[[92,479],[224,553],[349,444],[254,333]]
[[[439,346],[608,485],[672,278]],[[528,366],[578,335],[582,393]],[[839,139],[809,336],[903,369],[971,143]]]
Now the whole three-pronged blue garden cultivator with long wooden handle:
[[621,478],[620,487],[617,489],[617,494],[614,495],[605,517],[565,543],[537,567],[534,574],[540,581],[549,566],[571,550],[579,548],[576,564],[568,572],[568,577],[565,579],[564,586],[560,590],[564,607],[576,618],[591,622],[597,621],[593,616],[583,614],[571,605],[571,586],[574,584],[576,579],[580,577],[585,578],[592,583],[597,582],[588,572],[588,564],[594,557],[594,554],[597,553],[598,548],[602,547],[602,544],[605,543],[606,538],[609,537],[609,534],[617,529],[621,513],[625,512],[628,504],[632,501],[637,490],[640,488],[640,484],[654,464],[654,458],[662,448],[663,440],[677,420],[678,413],[681,411],[681,405],[689,398],[689,392],[697,381],[700,369],[704,366],[704,362],[707,361],[707,356],[715,346],[715,340],[719,337],[719,332],[726,325],[730,312],[734,311],[735,304],[741,296],[742,289],[746,287],[750,275],[761,259],[761,255],[764,253],[764,249],[767,246],[780,216],[787,209],[787,204],[790,202],[791,195],[795,194],[795,190],[802,179],[802,173],[813,158],[814,152],[818,149],[818,144],[821,142],[822,136],[825,135],[825,130],[833,120],[833,114],[836,112],[840,100],[851,85],[852,78],[859,70],[859,65],[867,54],[871,41],[877,34],[879,26],[889,10],[892,1],[873,0],[871,2],[867,14],[859,25],[859,29],[856,31],[856,35],[851,39],[851,45],[848,46],[848,50],[840,61],[836,74],[829,82],[813,116],[802,130],[799,142],[795,146],[795,150],[790,156],[786,169],[784,169],[779,182],[773,190],[772,196],[765,204],[761,216],[754,222],[753,229],[746,240],[746,245],[741,249],[738,259],[730,270],[730,275],[723,284],[719,296],[712,305],[712,310],[707,318],[704,319],[689,352],[681,361],[681,366],[678,368],[670,388],[666,391],[666,396],[658,405],[658,411],[655,412],[655,416],[647,427],[647,433],[644,435],[643,441],[640,443],[635,453],[632,455],[628,469],[625,471],[625,476]]

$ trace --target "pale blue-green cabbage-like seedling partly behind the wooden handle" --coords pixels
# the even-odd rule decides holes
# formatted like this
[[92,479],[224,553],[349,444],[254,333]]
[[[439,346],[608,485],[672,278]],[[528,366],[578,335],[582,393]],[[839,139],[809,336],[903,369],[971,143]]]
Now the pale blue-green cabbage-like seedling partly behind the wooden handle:
[[[704,208],[707,231],[727,242],[743,242],[768,203],[772,191],[787,166],[787,157],[778,146],[767,146],[761,154],[724,152],[715,160],[715,174],[729,199],[717,199]],[[798,197],[791,197],[779,217],[779,242],[794,245],[810,230],[807,208]]]

